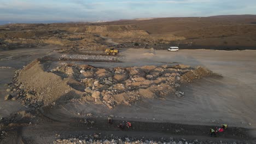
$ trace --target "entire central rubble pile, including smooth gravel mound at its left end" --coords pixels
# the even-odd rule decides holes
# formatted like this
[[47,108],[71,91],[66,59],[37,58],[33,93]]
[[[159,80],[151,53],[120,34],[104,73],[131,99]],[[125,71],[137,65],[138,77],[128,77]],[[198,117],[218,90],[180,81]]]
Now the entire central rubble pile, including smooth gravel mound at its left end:
[[[22,104],[33,107],[78,98],[113,109],[117,105],[131,105],[170,94],[182,97],[184,93],[178,91],[182,83],[212,74],[206,68],[182,64],[106,69],[62,64],[45,71],[43,64],[36,60],[16,71],[10,91],[15,89],[18,92],[15,99],[24,98]],[[12,97],[7,95],[5,99]]]

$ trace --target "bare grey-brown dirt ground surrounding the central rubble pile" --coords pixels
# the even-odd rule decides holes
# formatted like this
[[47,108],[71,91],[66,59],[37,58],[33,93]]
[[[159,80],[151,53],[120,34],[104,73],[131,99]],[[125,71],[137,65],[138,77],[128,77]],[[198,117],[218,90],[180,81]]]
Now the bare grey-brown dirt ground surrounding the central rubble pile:
[[[18,101],[3,100],[7,94],[5,89],[8,88],[4,84],[11,82],[15,69],[22,68],[38,57],[62,55],[53,52],[53,49],[57,47],[45,48],[47,47],[1,52],[1,117],[27,109]],[[49,69],[61,63],[90,64],[102,68],[187,64],[202,65],[223,77],[205,77],[182,85],[179,88],[184,92],[182,98],[171,94],[164,100],[146,99],[131,106],[118,105],[113,110],[106,109],[104,105],[81,103],[78,100],[71,100],[53,107],[44,107],[37,115],[40,118],[32,119],[32,124],[28,127],[10,130],[9,136],[7,135],[1,142],[51,143],[60,138],[55,134],[67,138],[70,135],[101,132],[103,135],[111,133],[119,136],[148,136],[151,139],[158,139],[161,135],[177,139],[185,137],[188,140],[228,142],[241,140],[245,143],[253,143],[256,128],[254,105],[256,103],[254,94],[256,92],[256,51],[180,50],[168,52],[145,49],[121,49],[120,51],[120,56],[124,57],[123,62],[54,61],[49,63]],[[92,113],[93,116],[89,118],[95,119],[95,127],[90,128],[77,123],[78,119],[88,117],[86,116],[88,113]],[[100,123],[104,122],[109,115],[113,115],[115,121],[132,121],[137,127],[136,132],[126,133],[126,131],[120,132],[115,128],[105,128],[106,125]],[[230,126],[230,131],[226,136],[212,139],[205,132],[208,128],[222,123],[228,123]],[[150,124],[155,126],[149,129]],[[236,130],[236,127],[239,129]],[[168,132],[167,129],[174,131]],[[191,133],[190,131],[194,129],[196,133]],[[176,130],[182,132],[177,134]]]

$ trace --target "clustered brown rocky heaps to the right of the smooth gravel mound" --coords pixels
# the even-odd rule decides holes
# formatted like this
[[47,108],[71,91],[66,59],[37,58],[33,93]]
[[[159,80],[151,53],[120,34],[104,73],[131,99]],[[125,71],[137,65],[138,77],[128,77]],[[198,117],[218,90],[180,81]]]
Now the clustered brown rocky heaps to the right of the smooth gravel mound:
[[146,65],[113,69],[89,65],[62,65],[51,71],[80,82],[80,86],[85,87],[82,97],[84,101],[105,104],[109,109],[120,104],[131,105],[143,98],[165,97],[171,93],[182,97],[184,93],[177,91],[180,83],[212,74],[212,71],[205,68],[187,65]]

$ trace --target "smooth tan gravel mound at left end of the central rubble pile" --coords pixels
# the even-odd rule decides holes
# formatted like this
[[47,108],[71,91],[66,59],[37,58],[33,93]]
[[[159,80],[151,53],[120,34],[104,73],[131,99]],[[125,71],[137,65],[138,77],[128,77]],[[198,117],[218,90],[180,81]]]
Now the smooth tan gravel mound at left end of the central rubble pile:
[[[68,68],[67,71],[70,72]],[[69,75],[73,74],[69,72]],[[18,76],[18,83],[21,83],[19,88],[32,104],[49,105],[55,101],[78,97],[80,93],[68,85],[70,81],[69,78],[62,79],[58,75],[44,71],[38,60],[28,64]]]

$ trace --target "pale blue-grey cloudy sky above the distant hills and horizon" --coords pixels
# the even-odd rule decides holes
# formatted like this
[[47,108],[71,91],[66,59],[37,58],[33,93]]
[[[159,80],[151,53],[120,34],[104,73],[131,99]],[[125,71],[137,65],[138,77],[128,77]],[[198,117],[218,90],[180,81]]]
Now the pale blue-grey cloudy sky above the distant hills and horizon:
[[2,21],[97,21],[256,14],[256,0],[0,0]]

